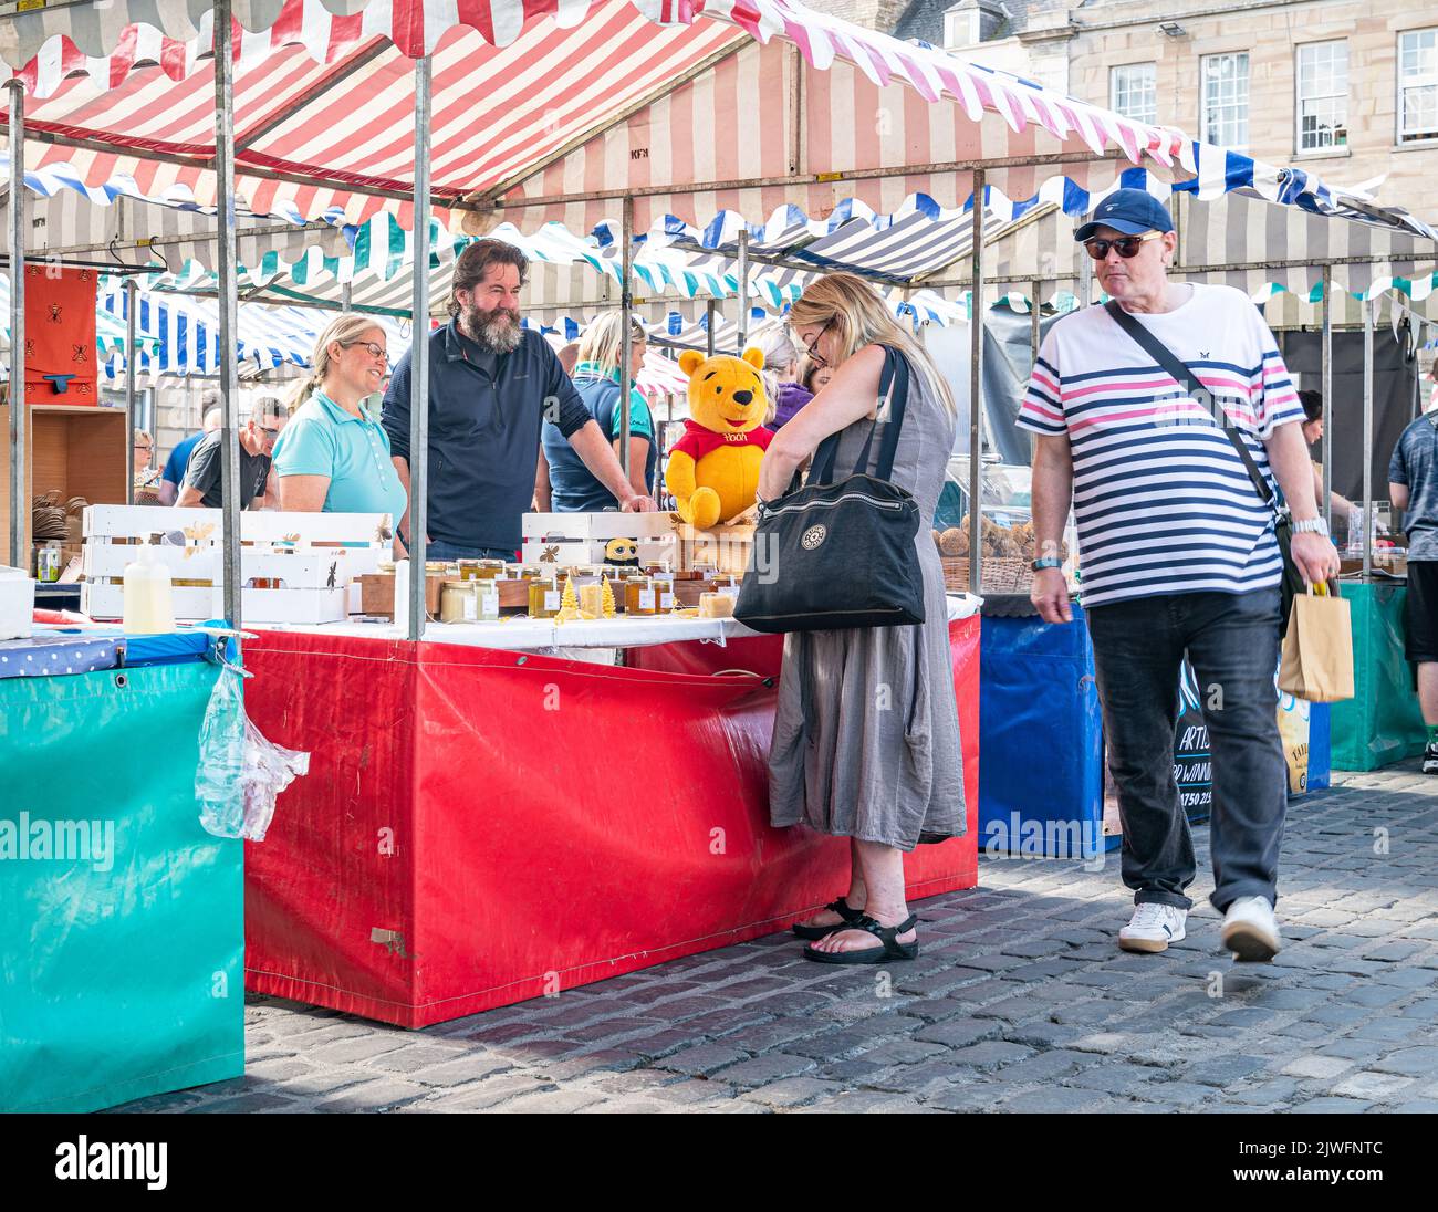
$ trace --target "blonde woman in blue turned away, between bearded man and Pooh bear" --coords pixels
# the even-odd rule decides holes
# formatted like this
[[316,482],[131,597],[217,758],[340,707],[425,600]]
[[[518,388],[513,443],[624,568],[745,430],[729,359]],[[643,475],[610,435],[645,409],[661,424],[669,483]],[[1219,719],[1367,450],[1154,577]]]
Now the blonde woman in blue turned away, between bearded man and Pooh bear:
[[[638,375],[644,364],[644,325],[637,319],[630,329],[631,375]],[[623,462],[623,416],[620,411],[620,365],[624,358],[624,325],[618,312],[608,312],[584,329],[580,338],[580,361],[571,378],[574,387],[598,421],[600,430],[614,443],[614,453]],[[618,509],[614,495],[601,485],[584,460],[569,446],[568,439],[551,420],[544,424],[544,457],[549,467],[549,508],[555,513],[594,513]],[[640,496],[650,496],[654,487],[654,467],[659,447],[654,443],[654,421],[649,403],[630,390],[630,483]]]

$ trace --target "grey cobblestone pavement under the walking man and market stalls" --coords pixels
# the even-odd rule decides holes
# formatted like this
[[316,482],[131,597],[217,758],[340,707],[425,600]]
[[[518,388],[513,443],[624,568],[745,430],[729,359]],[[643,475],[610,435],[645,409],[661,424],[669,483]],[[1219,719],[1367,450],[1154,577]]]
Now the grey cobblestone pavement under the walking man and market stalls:
[[1119,952],[1116,855],[979,880],[916,903],[915,963],[824,968],[775,935],[426,1031],[250,998],[244,1078],[124,1110],[1438,1111],[1416,761],[1293,807],[1273,965],[1222,955],[1206,901],[1168,953]]

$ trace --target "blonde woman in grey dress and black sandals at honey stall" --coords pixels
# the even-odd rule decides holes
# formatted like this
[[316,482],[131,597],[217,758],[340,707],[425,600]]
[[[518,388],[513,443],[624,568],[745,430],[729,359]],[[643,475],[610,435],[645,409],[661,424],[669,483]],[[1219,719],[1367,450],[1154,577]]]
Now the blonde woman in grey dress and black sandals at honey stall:
[[[925,621],[785,638],[769,748],[769,818],[850,838],[848,890],[794,927],[814,940],[805,947],[810,959],[913,959],[919,945],[905,900],[903,855],[917,843],[965,830],[943,568],[928,526],[953,450],[953,397],[925,348],[854,275],[811,283],[789,323],[834,377],[775,434],[761,464],[759,496],[781,496],[795,469],[833,433],[843,431],[835,476],[853,469],[876,417],[881,346],[899,351],[910,378],[893,482],[913,495],[925,519],[915,536]],[[873,457],[879,446],[876,436]]]

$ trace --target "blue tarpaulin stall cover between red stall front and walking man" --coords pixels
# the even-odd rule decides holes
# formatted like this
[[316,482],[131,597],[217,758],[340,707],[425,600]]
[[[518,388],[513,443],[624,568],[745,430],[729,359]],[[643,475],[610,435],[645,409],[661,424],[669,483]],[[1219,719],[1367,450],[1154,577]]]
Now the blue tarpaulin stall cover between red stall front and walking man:
[[[1027,607],[1027,611],[1024,610]],[[1091,858],[1103,848],[1103,726],[1083,608],[1051,627],[1027,598],[984,604],[979,851]],[[1027,614],[1027,617],[1025,617]]]

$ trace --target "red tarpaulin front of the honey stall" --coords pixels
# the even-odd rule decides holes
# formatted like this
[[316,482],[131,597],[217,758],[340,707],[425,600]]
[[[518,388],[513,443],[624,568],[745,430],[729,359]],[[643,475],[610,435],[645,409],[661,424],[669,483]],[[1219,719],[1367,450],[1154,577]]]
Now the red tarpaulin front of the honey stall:
[[[913,897],[976,878],[978,615],[949,634],[969,834],[906,858]],[[246,855],[247,986],[424,1027],[831,900],[846,843],[768,825],[775,690],[759,666],[777,648],[669,647],[676,669],[755,670],[306,633],[247,644],[256,725],[312,753]]]

